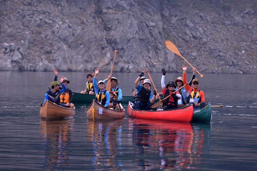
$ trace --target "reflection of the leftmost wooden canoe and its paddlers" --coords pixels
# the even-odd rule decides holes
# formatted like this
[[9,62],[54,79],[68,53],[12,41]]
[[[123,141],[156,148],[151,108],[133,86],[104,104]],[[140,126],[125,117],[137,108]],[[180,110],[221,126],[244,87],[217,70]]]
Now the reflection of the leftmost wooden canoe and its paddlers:
[[46,121],[40,119],[40,133],[44,138],[45,170],[53,170],[67,165],[66,149],[69,138],[69,132],[73,129],[74,119],[62,119],[55,121]]

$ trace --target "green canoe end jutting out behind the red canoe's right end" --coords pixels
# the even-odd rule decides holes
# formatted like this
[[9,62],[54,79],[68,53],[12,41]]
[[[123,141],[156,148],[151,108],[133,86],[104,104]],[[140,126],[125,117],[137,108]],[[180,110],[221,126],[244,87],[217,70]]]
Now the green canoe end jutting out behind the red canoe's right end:
[[191,122],[207,122],[210,123],[212,119],[211,104],[206,104],[199,109],[194,109],[193,118]]

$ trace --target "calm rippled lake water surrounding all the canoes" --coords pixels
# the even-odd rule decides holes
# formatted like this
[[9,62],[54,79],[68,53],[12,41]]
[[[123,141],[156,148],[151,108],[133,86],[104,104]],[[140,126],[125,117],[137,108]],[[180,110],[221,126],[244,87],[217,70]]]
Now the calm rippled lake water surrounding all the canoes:
[[[86,73],[61,74],[73,92],[85,89]],[[113,75],[123,95],[131,95],[138,74]],[[167,74],[165,82],[181,75]],[[161,74],[151,76],[160,91]],[[53,78],[52,72],[0,72],[1,170],[257,169],[257,75],[200,78],[206,102],[226,106],[212,108],[210,124],[131,119],[127,113],[122,120],[92,122],[89,104],[75,104],[72,119],[45,121],[39,105]]]

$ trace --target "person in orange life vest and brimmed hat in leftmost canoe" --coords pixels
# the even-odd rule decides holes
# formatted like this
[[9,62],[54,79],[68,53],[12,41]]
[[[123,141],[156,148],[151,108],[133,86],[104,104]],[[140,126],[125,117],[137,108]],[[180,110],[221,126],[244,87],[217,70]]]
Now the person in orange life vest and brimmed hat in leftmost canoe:
[[[58,71],[54,68],[54,73],[55,73],[55,79],[54,81],[57,81],[57,78],[58,78]],[[67,78],[64,77],[64,80],[63,80],[63,83],[61,83],[60,81],[60,84],[61,86],[59,86],[59,90],[62,89],[62,84],[65,84],[65,87],[67,88],[68,84],[70,83],[70,80],[67,80]],[[73,100],[73,94],[72,94],[72,91],[67,88],[67,90],[61,95],[60,97],[60,106],[70,106],[70,108],[74,108],[74,104],[71,103]]]

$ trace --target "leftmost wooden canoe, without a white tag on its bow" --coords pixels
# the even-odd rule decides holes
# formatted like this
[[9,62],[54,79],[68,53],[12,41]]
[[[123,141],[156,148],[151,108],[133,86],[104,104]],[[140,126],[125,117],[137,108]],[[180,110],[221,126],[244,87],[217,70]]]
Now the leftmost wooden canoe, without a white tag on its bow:
[[46,120],[62,119],[75,116],[75,107],[73,109],[56,105],[49,100],[40,107],[40,117]]

